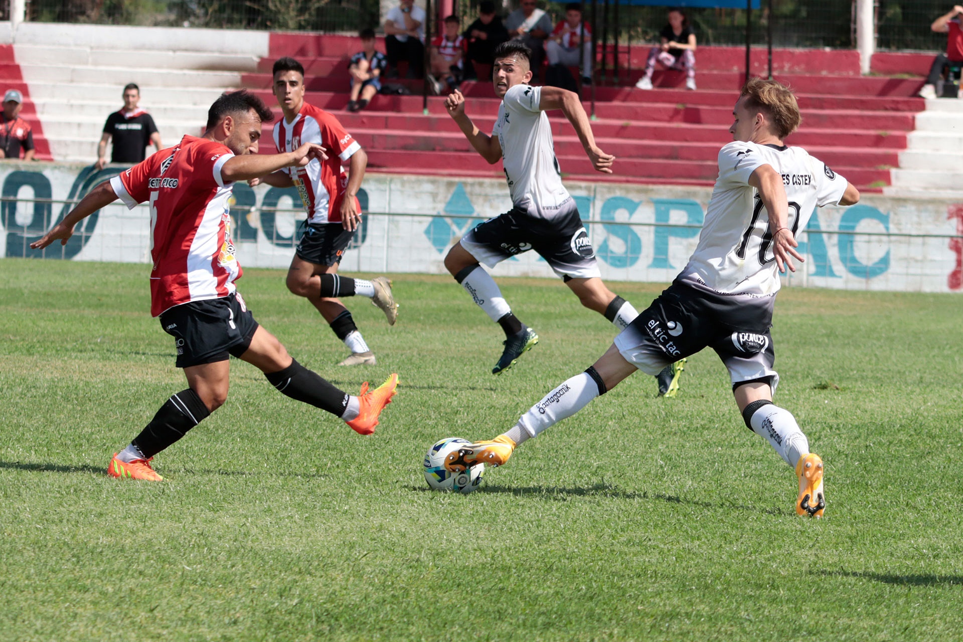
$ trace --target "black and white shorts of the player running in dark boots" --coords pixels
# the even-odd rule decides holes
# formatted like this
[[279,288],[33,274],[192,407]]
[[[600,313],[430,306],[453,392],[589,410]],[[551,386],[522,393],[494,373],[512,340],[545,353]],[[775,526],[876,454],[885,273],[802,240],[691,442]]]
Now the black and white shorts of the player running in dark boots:
[[555,218],[535,218],[512,208],[479,223],[461,238],[461,246],[487,268],[534,249],[555,273],[569,278],[600,276],[595,250],[575,202]]

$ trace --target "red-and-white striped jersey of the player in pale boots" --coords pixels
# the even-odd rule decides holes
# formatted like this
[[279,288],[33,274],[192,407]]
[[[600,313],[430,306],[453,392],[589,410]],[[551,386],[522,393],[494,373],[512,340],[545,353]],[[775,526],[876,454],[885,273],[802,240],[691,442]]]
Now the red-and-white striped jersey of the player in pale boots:
[[308,223],[340,223],[341,198],[348,188],[348,174],[342,169],[361,145],[345,131],[338,119],[306,102],[298,116],[274,124],[274,146],[279,152],[298,149],[305,142],[325,148],[327,160],[312,160],[305,167],[288,167],[295,188],[307,212]]

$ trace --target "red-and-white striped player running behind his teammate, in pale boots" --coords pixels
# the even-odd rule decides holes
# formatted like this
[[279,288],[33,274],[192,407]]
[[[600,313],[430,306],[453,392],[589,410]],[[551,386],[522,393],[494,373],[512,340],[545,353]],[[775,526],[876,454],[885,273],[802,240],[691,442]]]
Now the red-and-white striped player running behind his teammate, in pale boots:
[[[327,158],[312,159],[303,167],[285,167],[260,178],[279,188],[298,188],[307,222],[288,269],[287,286],[318,309],[335,336],[351,349],[339,366],[375,365],[375,353],[365,343],[351,312],[339,296],[366,296],[390,325],[398,318],[391,281],[339,276],[338,264],[361,224],[357,193],[368,167],[368,155],[341,123],[322,109],[304,102],[304,67],[293,58],[273,66],[274,97],[284,118],[274,124],[274,145],[293,151],[302,143],[325,147]],[[341,169],[349,164],[348,175]],[[257,181],[251,181],[256,184]]]

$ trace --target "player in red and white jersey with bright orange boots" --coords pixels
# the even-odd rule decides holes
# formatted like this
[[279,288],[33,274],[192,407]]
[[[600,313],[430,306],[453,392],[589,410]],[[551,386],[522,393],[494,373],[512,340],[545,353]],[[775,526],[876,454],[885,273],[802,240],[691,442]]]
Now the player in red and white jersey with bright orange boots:
[[375,431],[378,415],[395,394],[397,374],[373,391],[365,382],[353,397],[307,370],[254,321],[237,292],[234,281],[242,270],[227,206],[233,184],[324,158],[322,148],[309,142],[287,153],[258,156],[261,122],[272,119],[257,96],[244,90],[222,94],[208,112],[202,138],[185,136],[101,183],[31,244],[35,249],[56,240],[66,244],[74,225],[117,198],[128,208],[150,203],[150,313],[174,338],[176,365],[184,369],[188,388],[172,395],[141,434],[114,455],[110,475],[163,479],[150,460],[223,404],[228,355],[260,369],[284,395],[341,418],[361,434]]

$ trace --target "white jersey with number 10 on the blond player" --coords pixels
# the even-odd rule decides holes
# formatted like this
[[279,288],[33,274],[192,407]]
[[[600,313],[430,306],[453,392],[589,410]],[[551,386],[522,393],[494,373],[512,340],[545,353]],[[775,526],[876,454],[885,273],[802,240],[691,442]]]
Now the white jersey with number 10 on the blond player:
[[699,243],[679,279],[723,295],[775,295],[779,273],[768,212],[749,177],[768,165],[782,176],[789,201],[786,226],[805,229],[816,207],[839,203],[846,179],[802,147],[730,142],[718,154],[719,175]]

